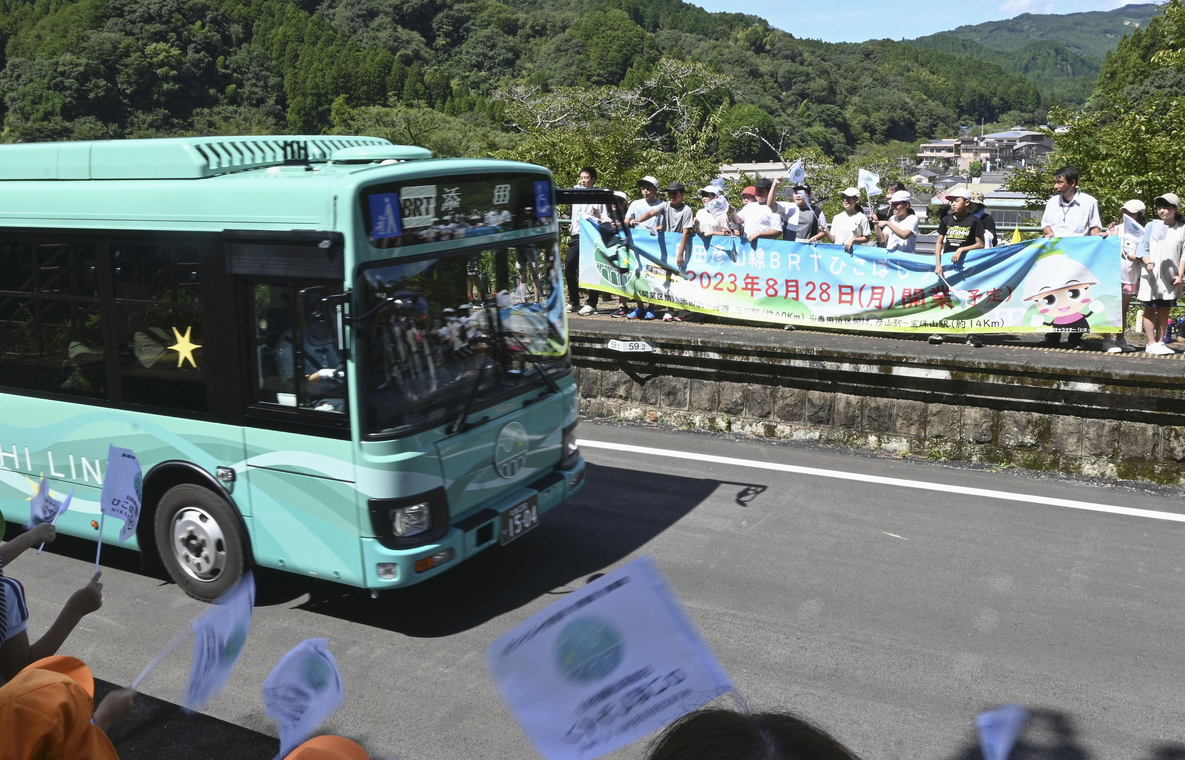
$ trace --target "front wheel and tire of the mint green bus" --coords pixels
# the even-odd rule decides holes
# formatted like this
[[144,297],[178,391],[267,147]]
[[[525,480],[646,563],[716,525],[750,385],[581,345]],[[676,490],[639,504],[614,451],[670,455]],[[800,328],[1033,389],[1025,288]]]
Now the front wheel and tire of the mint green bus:
[[169,576],[201,601],[223,595],[245,569],[238,518],[209,488],[182,483],[156,504],[156,551]]

